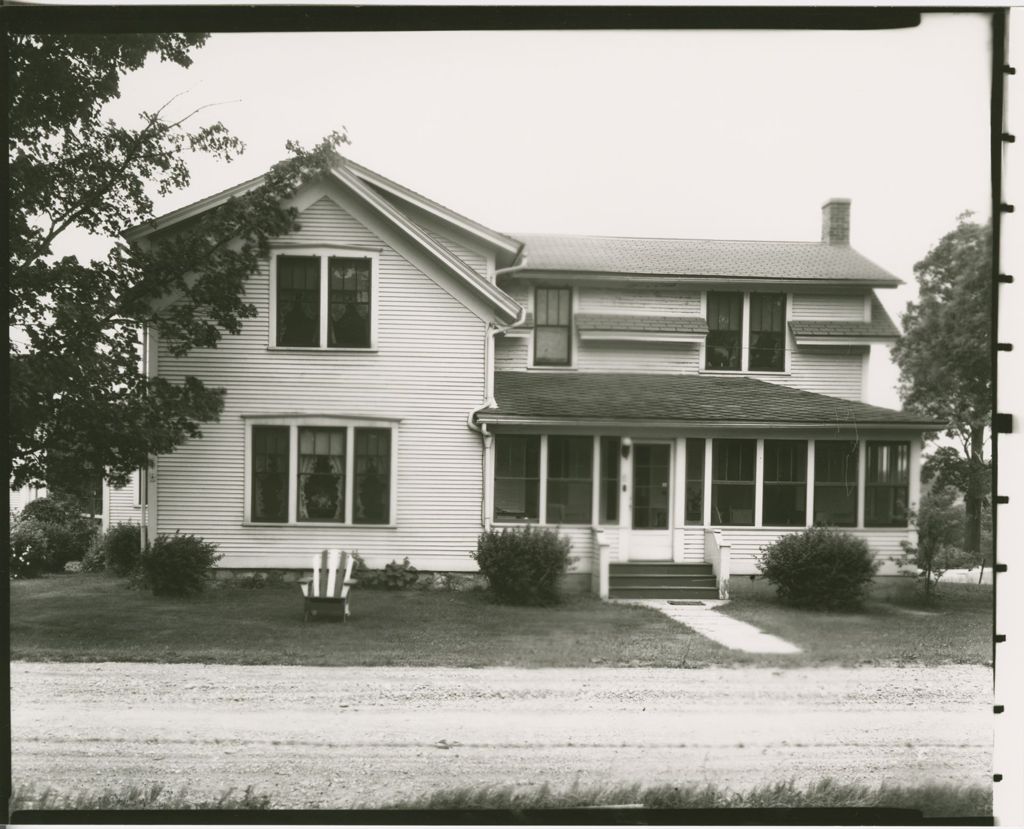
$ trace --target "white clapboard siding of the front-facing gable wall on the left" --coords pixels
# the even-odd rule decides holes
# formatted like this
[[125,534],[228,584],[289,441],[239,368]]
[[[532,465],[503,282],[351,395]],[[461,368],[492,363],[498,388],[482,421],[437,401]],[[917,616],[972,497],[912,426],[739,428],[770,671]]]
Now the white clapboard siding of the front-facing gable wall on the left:
[[[343,200],[342,200],[343,201]],[[322,199],[290,244],[362,245],[380,251],[376,353],[268,349],[269,269],[249,280],[257,310],[216,349],[174,358],[159,373],[195,375],[227,390],[217,423],[159,464],[159,530],[215,542],[221,567],[305,567],[326,547],[357,550],[372,567],[410,561],[426,570],[475,570],[481,446],[466,426],[484,394],[484,322],[349,210]],[[437,278],[443,279],[443,276]],[[244,416],[295,413],[395,419],[395,527],[244,526]]]

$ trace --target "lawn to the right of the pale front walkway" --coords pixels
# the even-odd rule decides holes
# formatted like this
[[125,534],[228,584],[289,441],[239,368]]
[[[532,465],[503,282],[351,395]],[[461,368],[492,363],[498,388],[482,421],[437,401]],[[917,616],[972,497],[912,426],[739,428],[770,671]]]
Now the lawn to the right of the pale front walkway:
[[911,581],[883,582],[858,612],[818,613],[780,605],[766,581],[733,581],[722,612],[799,646],[807,664],[991,663],[990,584],[944,584],[925,605]]

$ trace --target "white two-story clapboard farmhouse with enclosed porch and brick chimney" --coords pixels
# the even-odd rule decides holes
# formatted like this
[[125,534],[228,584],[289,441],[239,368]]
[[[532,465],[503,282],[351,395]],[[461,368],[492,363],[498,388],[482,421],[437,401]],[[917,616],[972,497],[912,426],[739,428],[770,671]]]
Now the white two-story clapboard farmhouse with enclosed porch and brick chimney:
[[892,571],[936,424],[862,402],[897,334],[876,291],[899,279],[850,247],[848,201],[816,243],[508,235],[343,161],[295,207],[240,336],[180,358],[146,336],[148,372],[227,390],[154,459],[151,536],[202,535],[227,568],[341,547],[471,571],[481,528],[532,522],[602,595],[616,566],[643,576],[621,595],[671,595],[666,565],[754,573],[764,543],[828,524]]

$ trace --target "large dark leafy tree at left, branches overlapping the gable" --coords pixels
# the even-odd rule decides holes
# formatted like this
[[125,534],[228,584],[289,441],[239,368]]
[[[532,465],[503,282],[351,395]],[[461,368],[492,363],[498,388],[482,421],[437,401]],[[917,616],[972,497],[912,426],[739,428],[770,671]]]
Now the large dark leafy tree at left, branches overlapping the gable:
[[[256,315],[246,280],[267,241],[294,229],[282,200],[336,159],[343,133],[292,157],[263,183],[158,246],[116,244],[105,259],[53,256],[72,227],[109,237],[153,217],[160,194],[189,183],[185,156],[225,162],[244,149],[222,124],[189,131],[169,106],[126,126],[104,120],[120,79],[151,55],[181,67],[206,35],[12,35],[8,38],[9,449],[14,487],[75,488],[99,471],[124,485],[151,453],[168,452],[216,420],[223,390],[197,378],[146,378],[140,329],[172,353],[216,347]],[[171,300],[174,300],[171,302]],[[24,341],[24,342],[23,342]]]

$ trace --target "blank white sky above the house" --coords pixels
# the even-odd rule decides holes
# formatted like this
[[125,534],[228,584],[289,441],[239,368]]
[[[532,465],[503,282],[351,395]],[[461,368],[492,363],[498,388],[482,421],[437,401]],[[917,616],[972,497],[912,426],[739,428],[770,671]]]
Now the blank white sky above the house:
[[[110,113],[230,101],[197,124],[222,121],[248,151],[197,159],[158,214],[341,126],[353,160],[513,234],[813,241],[821,204],[847,197],[853,246],[908,282],[880,292],[898,318],[913,263],[962,211],[988,216],[989,45],[983,14],[882,32],[219,34],[188,70],[128,78]],[[898,406],[882,353],[871,378],[869,402]]]

